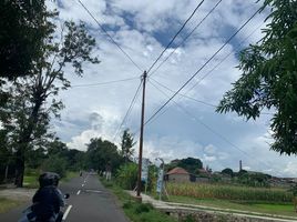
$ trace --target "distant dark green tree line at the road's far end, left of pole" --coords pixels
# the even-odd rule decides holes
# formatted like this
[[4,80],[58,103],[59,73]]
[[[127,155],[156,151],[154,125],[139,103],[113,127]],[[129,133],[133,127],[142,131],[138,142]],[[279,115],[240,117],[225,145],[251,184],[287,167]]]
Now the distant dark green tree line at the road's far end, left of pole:
[[[124,130],[121,147],[103,140],[93,138],[86,144],[86,150],[69,149],[65,143],[55,138],[44,142],[41,147],[28,150],[25,153],[25,169],[39,171],[53,171],[64,176],[66,171],[94,170],[99,173],[106,171],[109,165],[113,173],[116,173],[122,164],[132,163],[133,135],[129,130]],[[127,141],[127,142],[125,142]],[[132,141],[132,143],[131,143]],[[9,178],[14,178],[12,169],[16,168],[17,160],[12,153],[1,149],[2,161],[0,161],[0,182],[4,180],[4,171],[10,169]]]

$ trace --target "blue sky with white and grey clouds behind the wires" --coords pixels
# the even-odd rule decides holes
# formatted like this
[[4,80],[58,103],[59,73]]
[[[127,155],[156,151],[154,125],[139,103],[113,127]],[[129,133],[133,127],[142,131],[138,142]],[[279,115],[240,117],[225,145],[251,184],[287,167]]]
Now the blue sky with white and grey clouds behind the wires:
[[[86,22],[98,41],[94,54],[101,60],[100,64],[85,64],[83,78],[75,77],[71,69],[66,70],[72,88],[60,94],[65,109],[61,120],[53,121],[53,127],[71,149],[85,150],[85,144],[95,137],[117,144],[125,128],[135,133],[135,140],[139,141],[141,93],[120,131],[117,129],[141,83],[141,75],[150,69],[201,1],[81,2],[133,62],[111,41],[78,0],[49,1],[50,8],[59,9],[62,20]],[[202,3],[148,73],[145,120],[260,7],[255,1],[218,2],[219,0],[205,0]],[[216,4],[215,10],[204,19]],[[214,108],[224,92],[232,88],[231,83],[239,78],[240,72],[236,69],[238,51],[262,38],[260,29],[265,27],[266,16],[265,12],[257,14],[198,72],[181,94],[145,125],[145,158],[152,161],[163,158],[166,162],[187,157],[199,158],[204,167],[208,165],[214,171],[225,168],[238,171],[242,160],[246,170],[297,176],[295,157],[280,157],[269,150],[272,139],[268,125],[272,111],[267,111],[257,121],[246,122],[234,113],[218,114]],[[195,27],[195,31],[188,36]],[[135,155],[137,149],[136,144]]]

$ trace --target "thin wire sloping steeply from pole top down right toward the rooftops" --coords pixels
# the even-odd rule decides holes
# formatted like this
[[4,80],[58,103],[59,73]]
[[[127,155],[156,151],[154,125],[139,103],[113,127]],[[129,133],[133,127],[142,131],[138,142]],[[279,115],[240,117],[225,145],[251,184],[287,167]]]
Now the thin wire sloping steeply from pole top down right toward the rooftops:
[[[152,82],[150,82],[153,87],[155,87],[160,92],[162,92],[165,97],[170,98],[170,95],[167,95],[164,91],[162,91],[160,88],[157,88],[155,84],[153,84]],[[249,155],[247,152],[245,152],[244,150],[242,150],[240,148],[238,148],[236,144],[234,144],[233,142],[231,142],[226,137],[222,135],[221,133],[216,132],[214,129],[212,129],[209,125],[205,124],[203,121],[201,121],[199,119],[197,119],[194,114],[192,114],[191,112],[188,112],[187,109],[183,108],[181,104],[178,104],[177,102],[173,101],[174,104],[176,107],[178,107],[182,111],[184,111],[188,117],[191,117],[192,119],[194,119],[196,122],[198,122],[199,124],[202,124],[204,128],[206,128],[207,130],[209,130],[212,133],[214,133],[215,135],[219,137],[222,140],[224,140],[226,143],[231,144],[234,149],[240,151],[242,153],[244,153],[246,157],[250,158],[250,159],[255,159],[255,157]],[[257,159],[256,159],[257,160]],[[257,160],[259,163],[264,163],[266,167],[270,168],[270,165],[268,165],[266,162]]]

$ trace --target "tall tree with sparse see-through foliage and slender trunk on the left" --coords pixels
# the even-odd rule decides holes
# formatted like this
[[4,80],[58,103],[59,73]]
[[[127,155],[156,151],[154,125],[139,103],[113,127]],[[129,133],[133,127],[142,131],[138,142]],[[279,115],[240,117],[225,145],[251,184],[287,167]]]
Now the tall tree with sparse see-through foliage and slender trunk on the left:
[[43,40],[42,56],[33,61],[31,74],[16,80],[10,89],[8,104],[1,108],[9,117],[2,115],[2,121],[4,128],[10,129],[9,137],[14,143],[18,186],[22,186],[25,152],[33,147],[31,143],[53,137],[49,132],[50,118],[59,117],[59,111],[63,108],[55,97],[60,90],[70,87],[64,75],[65,65],[71,64],[74,72],[82,75],[83,62],[99,62],[96,58],[90,57],[95,40],[88,34],[85,24],[65,22],[58,39],[57,27],[50,22],[54,16],[57,13],[48,13],[43,18],[47,37]]

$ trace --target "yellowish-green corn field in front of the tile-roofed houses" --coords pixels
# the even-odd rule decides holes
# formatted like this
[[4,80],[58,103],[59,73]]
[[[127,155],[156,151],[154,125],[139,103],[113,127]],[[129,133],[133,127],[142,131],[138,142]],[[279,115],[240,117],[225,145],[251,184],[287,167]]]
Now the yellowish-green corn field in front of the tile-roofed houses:
[[234,201],[291,202],[293,193],[284,189],[248,188],[202,183],[167,183],[170,195]]

